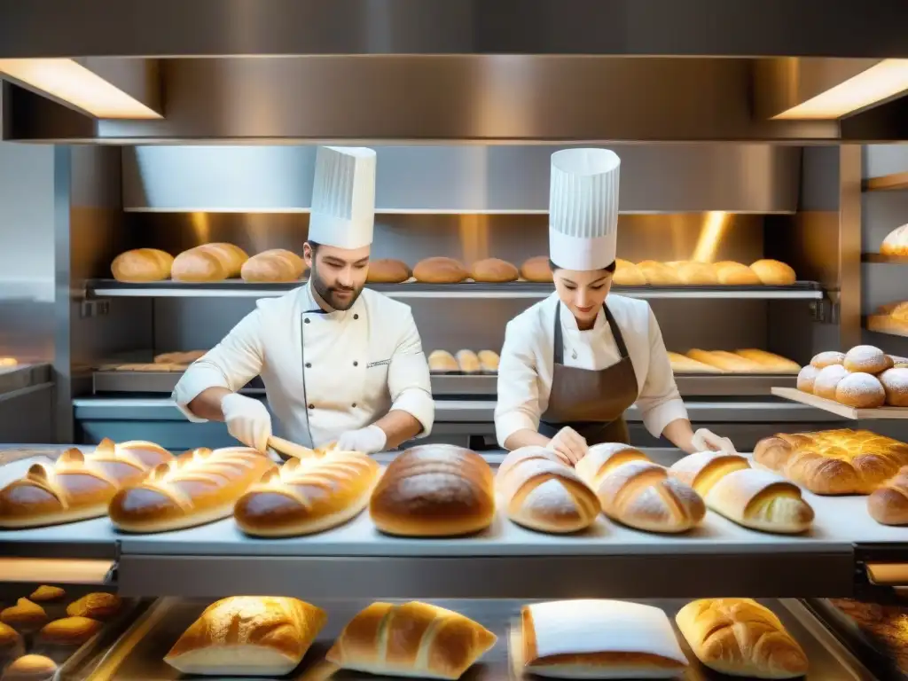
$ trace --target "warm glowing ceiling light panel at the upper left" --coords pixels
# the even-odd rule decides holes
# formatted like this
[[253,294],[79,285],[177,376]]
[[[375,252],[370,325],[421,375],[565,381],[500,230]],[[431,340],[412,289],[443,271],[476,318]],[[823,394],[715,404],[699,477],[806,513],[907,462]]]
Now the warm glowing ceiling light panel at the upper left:
[[163,118],[72,59],[0,59],[2,74],[97,118]]

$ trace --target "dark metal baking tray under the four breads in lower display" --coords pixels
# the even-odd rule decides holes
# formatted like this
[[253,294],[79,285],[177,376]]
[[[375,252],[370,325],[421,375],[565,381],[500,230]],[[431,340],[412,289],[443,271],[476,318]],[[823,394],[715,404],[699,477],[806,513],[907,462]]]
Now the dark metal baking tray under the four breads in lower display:
[[[163,656],[202,614],[210,600],[179,600],[165,598],[150,608],[143,617],[135,621],[122,637],[104,653],[85,659],[78,668],[73,668],[65,678],[73,681],[175,681],[181,678],[179,672],[163,662]],[[287,678],[301,681],[324,681],[325,666],[321,665],[325,653],[333,640],[370,601],[334,600],[317,602],[328,613],[328,623],[316,638],[315,644],[303,658],[301,665]],[[508,627],[518,617],[520,607],[527,601],[516,600],[438,600],[429,601],[441,607],[456,610],[476,620],[498,636],[496,645],[479,662],[470,667],[463,681],[491,681],[492,679],[515,679],[508,661]],[[686,600],[640,601],[662,607],[672,621],[676,612]],[[873,678],[860,663],[841,648],[833,637],[824,636],[824,628],[813,621],[813,617],[797,602],[763,601],[782,620],[785,628],[804,647],[810,660],[810,673],[805,681],[871,681]],[[691,665],[687,669],[686,681],[718,681],[729,677],[716,674],[701,666],[684,638],[676,636]],[[330,669],[328,672],[330,673]],[[218,676],[208,676],[215,681]],[[242,677],[232,676],[232,679]],[[255,678],[255,677],[250,677]],[[261,678],[261,677],[258,677]],[[360,672],[341,670],[332,676],[335,681],[365,681],[375,676]],[[746,677],[735,677],[745,679]]]

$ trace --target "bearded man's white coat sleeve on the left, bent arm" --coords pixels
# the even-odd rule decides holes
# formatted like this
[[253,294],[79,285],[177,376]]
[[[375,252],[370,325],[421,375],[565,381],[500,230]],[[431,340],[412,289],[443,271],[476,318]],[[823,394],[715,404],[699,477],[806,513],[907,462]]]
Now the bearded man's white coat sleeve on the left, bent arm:
[[177,409],[193,423],[204,422],[189,410],[189,403],[209,388],[240,390],[262,373],[263,358],[262,312],[255,309],[183,373],[173,389]]

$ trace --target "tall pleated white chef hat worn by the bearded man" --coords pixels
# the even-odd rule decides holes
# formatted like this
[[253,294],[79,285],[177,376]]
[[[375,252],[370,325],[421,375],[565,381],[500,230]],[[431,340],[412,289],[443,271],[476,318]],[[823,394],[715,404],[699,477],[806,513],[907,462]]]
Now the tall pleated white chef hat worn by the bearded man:
[[375,223],[375,151],[363,146],[320,146],[315,155],[309,240],[338,248],[372,242]]

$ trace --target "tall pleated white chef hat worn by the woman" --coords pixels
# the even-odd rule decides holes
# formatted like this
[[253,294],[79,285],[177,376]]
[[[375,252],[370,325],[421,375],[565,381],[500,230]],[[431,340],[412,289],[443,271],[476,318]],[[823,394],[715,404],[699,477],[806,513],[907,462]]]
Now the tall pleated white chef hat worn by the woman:
[[615,262],[621,159],[607,149],[552,154],[548,253],[566,270],[601,270]]

